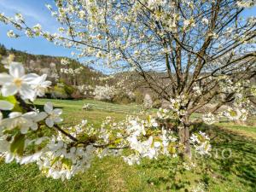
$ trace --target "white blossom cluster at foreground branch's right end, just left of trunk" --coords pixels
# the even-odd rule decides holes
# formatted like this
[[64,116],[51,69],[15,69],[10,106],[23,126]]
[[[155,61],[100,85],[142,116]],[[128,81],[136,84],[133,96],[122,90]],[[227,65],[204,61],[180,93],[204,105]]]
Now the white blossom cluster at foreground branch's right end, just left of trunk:
[[[158,125],[154,119],[149,119],[149,121],[132,119],[129,121],[129,125],[126,128],[129,133],[127,142],[134,153],[129,156],[125,156],[125,162],[127,162],[129,165],[133,165],[135,163],[139,164],[140,159],[144,157],[152,160],[157,159],[160,154],[173,156],[177,155],[176,147],[174,144],[176,138],[172,137],[172,132],[168,132],[165,129],[162,129],[158,136],[146,137],[148,132],[147,128],[156,128],[157,126]],[[140,139],[142,137],[144,137],[143,140]]]

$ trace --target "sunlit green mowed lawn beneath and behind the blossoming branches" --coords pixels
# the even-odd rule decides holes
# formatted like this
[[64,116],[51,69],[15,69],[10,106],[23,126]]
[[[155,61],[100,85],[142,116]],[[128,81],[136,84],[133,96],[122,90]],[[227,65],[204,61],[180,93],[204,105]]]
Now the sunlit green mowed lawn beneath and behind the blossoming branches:
[[[96,126],[107,116],[117,120],[127,114],[137,114],[140,107],[118,105],[93,100],[37,101],[39,107],[44,102],[53,102],[63,109],[65,125],[73,125],[81,119],[88,119]],[[84,103],[90,103],[93,110],[84,111]],[[61,182],[44,177],[36,165],[19,166],[15,163],[0,163],[0,191],[192,191],[205,186],[205,191],[255,191],[256,190],[256,127],[222,123],[201,125],[199,130],[207,131],[212,138],[212,157],[198,160],[191,171],[183,169],[182,162],[175,158],[143,160],[139,166],[128,166],[119,157],[94,160],[90,169],[69,181]],[[230,158],[222,158],[222,152]],[[198,190],[201,191],[201,190]]]

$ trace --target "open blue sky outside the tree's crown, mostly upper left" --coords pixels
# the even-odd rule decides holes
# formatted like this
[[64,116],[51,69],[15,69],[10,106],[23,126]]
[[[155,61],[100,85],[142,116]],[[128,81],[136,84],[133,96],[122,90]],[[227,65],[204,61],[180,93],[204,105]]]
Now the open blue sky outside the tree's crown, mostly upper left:
[[[40,23],[49,32],[55,32],[58,23],[45,7],[46,3],[53,2],[54,0],[0,0],[0,12],[9,16],[20,12],[31,26]],[[256,15],[256,8],[247,10],[245,15]],[[0,29],[0,44],[4,44],[8,49],[14,48],[40,55],[71,56],[71,49],[55,46],[43,38],[8,38],[6,32],[13,27],[0,23]]]

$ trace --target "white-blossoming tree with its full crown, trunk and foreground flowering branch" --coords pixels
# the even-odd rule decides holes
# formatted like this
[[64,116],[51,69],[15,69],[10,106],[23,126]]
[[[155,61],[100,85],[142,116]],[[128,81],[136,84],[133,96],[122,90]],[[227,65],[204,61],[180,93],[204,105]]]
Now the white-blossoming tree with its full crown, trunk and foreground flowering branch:
[[[11,141],[8,135],[3,135],[4,146],[11,142],[11,150],[5,150],[7,161],[37,160],[40,169],[49,176],[69,178],[88,167],[94,153],[102,156],[131,148],[134,153],[124,157],[129,164],[159,154],[175,156],[181,146],[185,154],[190,154],[190,143],[201,154],[207,153],[208,137],[204,133],[193,134],[189,139],[189,126],[195,123],[189,119],[192,113],[212,100],[217,104],[202,117],[208,124],[220,116],[246,119],[253,112],[255,87],[250,86],[250,80],[256,75],[256,21],[254,17],[243,19],[241,15],[254,4],[253,0],[55,0],[55,5],[47,5],[61,24],[59,32],[54,34],[40,25],[27,26],[20,14],[14,18],[0,15],[0,20],[17,30],[8,32],[11,38],[20,37],[20,32],[31,38],[42,36],[55,44],[77,49],[73,55],[87,57],[89,62],[99,61],[118,71],[138,73],[150,89],[170,102],[171,109],[160,109],[159,119],[175,119],[179,133],[178,138],[172,137],[170,128],[159,127],[150,117],[147,120],[130,117],[120,124],[106,119],[101,131],[83,121],[64,131],[55,125],[61,120],[58,117],[61,111],[46,103],[45,113],[10,113],[8,119],[2,120],[1,125],[8,130],[6,134],[12,134],[9,130],[17,125],[21,131]],[[15,77],[13,84],[6,82],[5,75],[0,83],[3,96],[18,91],[17,98],[24,104],[22,98],[32,100],[37,95],[28,94],[31,98],[26,95],[33,86],[33,81],[26,79],[38,77],[23,76],[18,73],[20,70],[22,67],[12,63],[9,74]],[[230,108],[218,112],[224,104]],[[16,148],[20,143],[22,148],[32,142],[42,143],[41,137],[25,142],[22,134],[28,128],[37,130],[36,124],[41,125],[44,119],[48,127],[54,126],[61,135],[45,138],[50,142],[40,154],[20,158],[23,149]],[[26,126],[29,126],[23,127],[23,121],[28,121]],[[155,131],[155,127],[160,129]]]

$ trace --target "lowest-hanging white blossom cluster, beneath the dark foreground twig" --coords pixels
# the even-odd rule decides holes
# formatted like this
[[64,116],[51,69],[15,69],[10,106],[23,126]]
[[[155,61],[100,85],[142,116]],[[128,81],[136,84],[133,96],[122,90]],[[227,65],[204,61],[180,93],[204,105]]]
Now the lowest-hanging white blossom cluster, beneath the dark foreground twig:
[[90,167],[95,149],[92,145],[86,148],[67,148],[67,143],[53,137],[44,148],[44,153],[37,160],[37,164],[47,177],[70,179],[73,175],[84,172]]

